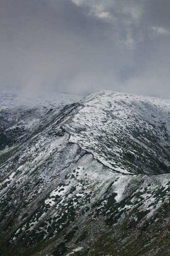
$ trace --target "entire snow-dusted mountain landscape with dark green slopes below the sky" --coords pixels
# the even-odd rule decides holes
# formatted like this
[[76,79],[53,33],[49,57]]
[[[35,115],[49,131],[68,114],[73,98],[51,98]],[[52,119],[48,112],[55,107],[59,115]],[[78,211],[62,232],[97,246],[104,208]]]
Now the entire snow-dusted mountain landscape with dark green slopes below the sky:
[[99,91],[4,107],[5,97],[2,256],[169,255],[170,100]]

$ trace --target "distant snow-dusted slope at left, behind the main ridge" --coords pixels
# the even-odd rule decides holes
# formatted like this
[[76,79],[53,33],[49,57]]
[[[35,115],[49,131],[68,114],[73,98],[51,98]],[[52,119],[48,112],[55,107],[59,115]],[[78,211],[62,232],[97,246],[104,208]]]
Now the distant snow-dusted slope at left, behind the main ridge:
[[24,97],[18,92],[0,93],[0,150],[26,139],[51,120],[66,104],[82,97],[66,94]]

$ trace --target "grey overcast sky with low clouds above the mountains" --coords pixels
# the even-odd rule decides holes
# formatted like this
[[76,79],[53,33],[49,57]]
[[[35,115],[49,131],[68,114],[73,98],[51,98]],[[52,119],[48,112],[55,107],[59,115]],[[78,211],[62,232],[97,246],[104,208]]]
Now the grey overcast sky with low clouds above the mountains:
[[170,0],[0,0],[0,88],[170,99]]

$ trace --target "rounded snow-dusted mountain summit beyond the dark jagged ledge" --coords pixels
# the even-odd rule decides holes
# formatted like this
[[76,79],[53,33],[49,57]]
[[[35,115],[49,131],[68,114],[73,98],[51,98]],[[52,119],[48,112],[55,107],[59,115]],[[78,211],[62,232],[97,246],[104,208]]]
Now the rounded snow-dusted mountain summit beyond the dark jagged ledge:
[[170,172],[170,101],[98,91],[81,104],[65,126],[71,142],[118,172]]

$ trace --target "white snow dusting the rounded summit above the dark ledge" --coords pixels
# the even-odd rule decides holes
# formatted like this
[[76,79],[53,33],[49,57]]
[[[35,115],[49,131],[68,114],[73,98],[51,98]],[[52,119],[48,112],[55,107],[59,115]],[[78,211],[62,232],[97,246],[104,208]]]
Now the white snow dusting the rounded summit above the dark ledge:
[[[145,141],[144,132],[148,131],[152,136],[156,136],[157,130],[154,126],[160,116],[170,131],[170,122],[167,119],[170,113],[170,100],[99,91],[80,103],[81,108],[74,115],[71,123],[64,125],[71,134],[70,142],[78,143],[116,172],[136,173],[136,166],[134,168],[131,164],[128,168],[124,166],[124,161],[128,162],[124,160],[125,153],[130,153],[134,157],[142,154],[143,150],[155,154],[155,151],[148,147],[151,142],[147,138]],[[141,130],[144,139],[140,139],[140,134],[134,137],[133,132],[136,130]],[[133,147],[127,150],[126,141],[127,143],[131,141],[132,145],[135,144],[141,150],[136,151]]]

